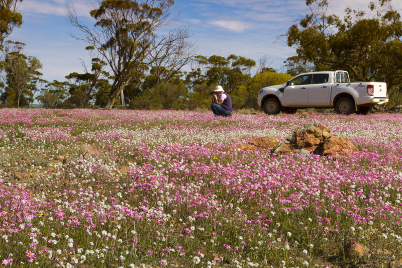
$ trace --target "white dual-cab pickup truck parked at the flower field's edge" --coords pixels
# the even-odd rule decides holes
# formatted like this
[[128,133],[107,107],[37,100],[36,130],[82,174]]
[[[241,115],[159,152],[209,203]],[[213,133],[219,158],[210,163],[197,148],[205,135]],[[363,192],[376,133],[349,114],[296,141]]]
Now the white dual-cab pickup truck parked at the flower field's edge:
[[289,81],[261,88],[257,103],[266,114],[297,109],[334,108],[338,114],[367,114],[370,104],[388,102],[386,83],[350,82],[347,71],[299,74]]

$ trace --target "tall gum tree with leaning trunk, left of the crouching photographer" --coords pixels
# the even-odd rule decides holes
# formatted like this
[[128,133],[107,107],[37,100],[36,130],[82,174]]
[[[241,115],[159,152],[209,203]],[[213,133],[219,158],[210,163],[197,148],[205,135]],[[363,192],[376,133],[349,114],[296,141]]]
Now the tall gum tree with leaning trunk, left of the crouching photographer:
[[169,24],[173,0],[98,0],[99,8],[90,11],[96,20],[92,29],[78,21],[72,6],[67,9],[71,25],[79,28],[84,40],[104,57],[114,81],[106,108],[111,109],[123,88],[145,72],[155,61],[152,51],[169,41],[158,38],[156,31]]

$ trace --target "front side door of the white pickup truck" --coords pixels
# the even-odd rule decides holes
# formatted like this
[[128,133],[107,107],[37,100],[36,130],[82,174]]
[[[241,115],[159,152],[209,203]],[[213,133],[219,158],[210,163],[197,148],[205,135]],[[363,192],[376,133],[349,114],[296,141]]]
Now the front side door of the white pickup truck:
[[294,77],[283,90],[283,102],[286,106],[306,106],[311,74]]

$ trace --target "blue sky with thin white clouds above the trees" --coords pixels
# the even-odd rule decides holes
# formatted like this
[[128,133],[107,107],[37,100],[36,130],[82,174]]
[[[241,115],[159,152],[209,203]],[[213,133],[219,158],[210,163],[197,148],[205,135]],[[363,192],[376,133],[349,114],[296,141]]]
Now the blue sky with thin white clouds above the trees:
[[[394,6],[402,6],[394,0]],[[80,59],[90,62],[87,44],[75,40],[79,35],[65,16],[65,6],[73,4],[82,22],[93,25],[88,12],[95,1],[24,0],[19,12],[23,25],[8,40],[26,44],[26,55],[36,56],[43,64],[43,78],[64,81],[70,72],[83,72]],[[367,10],[369,0],[336,0],[329,13],[342,15],[346,7]],[[281,70],[283,61],[294,55],[294,49],[277,37],[285,34],[297,18],[309,13],[305,0],[175,0],[171,10],[177,23],[189,26],[190,39],[198,55],[230,54],[254,59],[267,57],[271,67]]]

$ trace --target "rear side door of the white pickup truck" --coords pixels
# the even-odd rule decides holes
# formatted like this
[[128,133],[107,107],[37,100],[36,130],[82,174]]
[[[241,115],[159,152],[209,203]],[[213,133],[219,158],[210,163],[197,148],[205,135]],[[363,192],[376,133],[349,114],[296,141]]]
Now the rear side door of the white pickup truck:
[[330,105],[331,81],[328,73],[314,73],[308,90],[309,105],[327,106]]

